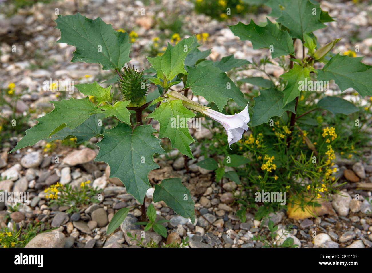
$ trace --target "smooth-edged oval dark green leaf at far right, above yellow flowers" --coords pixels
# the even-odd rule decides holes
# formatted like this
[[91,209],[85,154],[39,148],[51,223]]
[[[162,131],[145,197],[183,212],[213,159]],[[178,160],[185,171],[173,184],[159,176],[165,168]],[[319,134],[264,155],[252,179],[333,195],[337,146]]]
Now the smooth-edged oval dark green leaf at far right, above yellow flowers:
[[339,97],[326,96],[322,98],[317,106],[325,110],[330,111],[332,114],[344,114],[349,115],[357,112],[359,109],[350,101],[344,100]]

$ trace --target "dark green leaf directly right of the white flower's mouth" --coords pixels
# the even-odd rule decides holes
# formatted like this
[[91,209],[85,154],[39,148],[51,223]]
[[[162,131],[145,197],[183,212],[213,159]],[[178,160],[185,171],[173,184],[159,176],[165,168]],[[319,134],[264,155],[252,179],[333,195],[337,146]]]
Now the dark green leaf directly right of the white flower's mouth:
[[251,126],[267,123],[272,117],[280,117],[285,111],[295,113],[295,101],[283,107],[283,92],[273,88],[260,91],[254,98]]

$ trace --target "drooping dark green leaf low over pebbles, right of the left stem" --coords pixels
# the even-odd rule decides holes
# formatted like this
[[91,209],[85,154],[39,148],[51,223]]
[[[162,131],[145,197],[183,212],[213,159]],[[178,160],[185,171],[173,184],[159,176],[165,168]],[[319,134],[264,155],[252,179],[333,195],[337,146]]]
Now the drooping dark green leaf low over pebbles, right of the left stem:
[[195,222],[195,202],[180,178],[169,178],[155,185],[154,202],[164,201],[174,212]]

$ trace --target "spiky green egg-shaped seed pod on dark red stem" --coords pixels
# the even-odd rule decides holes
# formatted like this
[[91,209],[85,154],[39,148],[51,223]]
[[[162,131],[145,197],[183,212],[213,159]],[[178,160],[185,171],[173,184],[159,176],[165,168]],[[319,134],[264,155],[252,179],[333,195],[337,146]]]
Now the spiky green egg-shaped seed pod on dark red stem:
[[131,101],[128,106],[138,107],[145,104],[148,85],[143,70],[139,71],[133,66],[124,66],[120,75],[121,78],[118,80],[119,91],[123,95],[123,100]]

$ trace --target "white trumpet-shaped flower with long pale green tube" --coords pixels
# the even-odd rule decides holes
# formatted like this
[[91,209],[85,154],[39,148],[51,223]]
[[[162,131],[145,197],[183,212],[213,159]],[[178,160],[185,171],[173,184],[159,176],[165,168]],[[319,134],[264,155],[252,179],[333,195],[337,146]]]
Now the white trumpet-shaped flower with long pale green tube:
[[204,114],[205,116],[208,116],[213,120],[221,123],[226,130],[227,142],[229,143],[229,147],[232,143],[238,142],[242,138],[244,131],[248,130],[247,123],[250,121],[248,114],[248,104],[243,109],[243,111],[240,111],[237,114],[225,115],[219,113],[218,111],[212,110],[209,107],[206,107],[199,103],[195,103],[184,95],[179,94],[179,92],[170,91],[167,95],[169,95],[170,99],[182,100],[182,103],[185,107],[196,110]]

